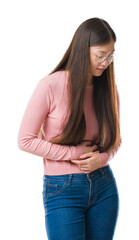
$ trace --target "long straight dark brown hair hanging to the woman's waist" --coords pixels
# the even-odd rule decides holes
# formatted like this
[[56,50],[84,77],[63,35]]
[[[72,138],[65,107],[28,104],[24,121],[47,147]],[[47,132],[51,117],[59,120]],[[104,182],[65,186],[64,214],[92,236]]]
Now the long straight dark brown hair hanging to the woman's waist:
[[[88,84],[89,47],[103,45],[111,40],[115,42],[116,35],[105,20],[90,18],[84,21],[76,30],[62,60],[50,73],[60,70],[68,71],[70,92],[68,121],[62,133],[52,138],[50,142],[75,146],[83,141],[86,131],[84,97]],[[104,70],[100,77],[93,76],[92,80],[92,100],[99,126],[99,138],[92,139],[92,143],[98,145],[100,152],[105,152],[117,147],[120,141],[114,62]]]

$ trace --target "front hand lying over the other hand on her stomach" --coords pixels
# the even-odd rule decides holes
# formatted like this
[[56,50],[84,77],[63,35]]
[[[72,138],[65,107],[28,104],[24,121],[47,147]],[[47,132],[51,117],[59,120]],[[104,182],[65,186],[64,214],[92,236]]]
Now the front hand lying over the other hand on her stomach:
[[90,173],[100,168],[99,151],[85,153],[80,158],[83,160],[71,160],[71,162],[77,164],[84,173]]

